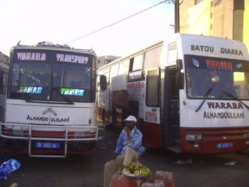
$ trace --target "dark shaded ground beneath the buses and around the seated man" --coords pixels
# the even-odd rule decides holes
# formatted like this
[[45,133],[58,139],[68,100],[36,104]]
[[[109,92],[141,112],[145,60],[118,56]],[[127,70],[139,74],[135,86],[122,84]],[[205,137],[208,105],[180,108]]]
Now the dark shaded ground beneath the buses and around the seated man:
[[[2,155],[1,163],[14,158],[21,167],[0,187],[102,187],[103,167],[110,159],[118,133],[100,129],[97,149],[92,154],[67,158],[30,158],[27,155]],[[152,174],[173,172],[176,187],[248,187],[248,152],[219,155],[176,154],[169,151],[147,152],[140,162]],[[12,186],[12,187],[13,187]]]

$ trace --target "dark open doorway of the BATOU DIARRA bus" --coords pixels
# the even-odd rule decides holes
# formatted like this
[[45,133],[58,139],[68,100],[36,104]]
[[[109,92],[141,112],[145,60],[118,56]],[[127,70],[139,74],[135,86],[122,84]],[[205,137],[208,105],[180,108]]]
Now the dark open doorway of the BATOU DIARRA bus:
[[163,146],[175,152],[180,152],[179,88],[183,85],[182,78],[182,73],[175,66],[165,69],[162,115]]

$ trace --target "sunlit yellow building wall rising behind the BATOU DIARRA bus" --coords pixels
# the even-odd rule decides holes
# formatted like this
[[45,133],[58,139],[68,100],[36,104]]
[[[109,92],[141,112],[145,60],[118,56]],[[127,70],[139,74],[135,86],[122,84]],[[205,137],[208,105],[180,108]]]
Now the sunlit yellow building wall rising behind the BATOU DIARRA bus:
[[183,0],[180,32],[243,41],[249,49],[249,0]]

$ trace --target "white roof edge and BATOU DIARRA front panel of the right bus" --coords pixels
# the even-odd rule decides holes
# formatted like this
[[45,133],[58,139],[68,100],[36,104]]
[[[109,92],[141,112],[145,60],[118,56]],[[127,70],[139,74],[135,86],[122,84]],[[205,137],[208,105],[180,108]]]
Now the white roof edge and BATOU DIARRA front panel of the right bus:
[[185,54],[192,54],[199,56],[212,56],[228,59],[249,60],[248,50],[245,44],[241,41],[215,36],[175,33],[167,36],[167,38],[162,41],[149,45],[141,50],[131,53],[130,55],[121,57],[104,66],[101,66],[99,70],[111,66],[112,64],[115,64],[119,61],[130,59],[140,53],[143,53],[149,49],[160,45],[164,45],[163,50],[165,54],[163,55],[167,55],[167,52],[165,50],[168,50],[168,45],[165,44],[172,43],[175,43],[176,45],[180,46],[176,53],[178,54],[178,58],[182,58]]

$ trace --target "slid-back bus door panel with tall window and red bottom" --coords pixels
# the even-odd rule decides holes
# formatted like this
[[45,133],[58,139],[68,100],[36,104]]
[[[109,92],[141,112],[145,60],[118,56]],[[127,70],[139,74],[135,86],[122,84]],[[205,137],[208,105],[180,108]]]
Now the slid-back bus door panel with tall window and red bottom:
[[162,148],[160,125],[160,68],[147,70],[145,82],[144,145],[154,149],[160,149]]

